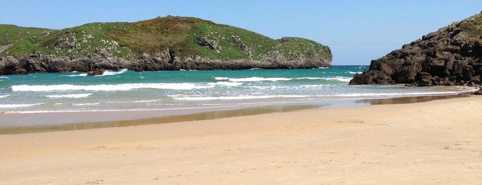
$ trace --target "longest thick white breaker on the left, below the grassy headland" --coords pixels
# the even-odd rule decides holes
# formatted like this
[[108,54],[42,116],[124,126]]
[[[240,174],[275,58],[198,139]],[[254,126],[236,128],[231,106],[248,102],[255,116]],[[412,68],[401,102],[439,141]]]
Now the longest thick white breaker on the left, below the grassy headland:
[[101,84],[79,86],[72,84],[61,85],[18,85],[12,86],[12,91],[30,91],[30,92],[48,92],[48,91],[66,91],[66,90],[85,90],[85,91],[118,91],[118,90],[133,90],[139,88],[153,88],[153,89],[170,89],[170,90],[192,90],[199,88],[212,88],[214,85],[201,85],[191,83],[174,83],[174,84]]

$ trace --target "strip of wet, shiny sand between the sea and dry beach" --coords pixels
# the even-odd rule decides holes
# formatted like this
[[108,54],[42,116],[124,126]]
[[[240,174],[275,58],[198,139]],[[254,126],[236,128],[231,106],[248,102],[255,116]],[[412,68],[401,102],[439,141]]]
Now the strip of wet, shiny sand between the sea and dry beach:
[[413,104],[436,99],[468,97],[467,93],[459,95],[394,97],[386,99],[361,99],[344,101],[323,101],[322,103],[290,103],[272,106],[221,107],[209,110],[194,108],[183,110],[119,110],[119,111],[81,111],[61,113],[7,113],[0,114],[3,125],[0,135],[38,133],[64,130],[83,130],[92,128],[108,128],[122,126],[139,126],[146,124],[166,124],[179,121],[196,121],[220,119],[245,115],[267,113],[286,113],[294,110],[343,108],[370,106],[377,104]]

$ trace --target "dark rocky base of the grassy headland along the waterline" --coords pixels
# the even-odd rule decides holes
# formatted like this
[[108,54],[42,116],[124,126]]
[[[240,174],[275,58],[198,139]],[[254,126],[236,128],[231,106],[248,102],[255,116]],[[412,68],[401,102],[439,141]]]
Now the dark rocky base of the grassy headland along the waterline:
[[25,75],[34,72],[89,72],[90,75],[102,74],[103,70],[126,68],[134,71],[157,70],[245,70],[250,68],[289,69],[319,68],[330,66],[331,61],[323,57],[312,60],[287,60],[281,55],[270,55],[262,60],[220,60],[178,57],[150,57],[141,59],[103,58],[103,57],[55,57],[52,55],[29,55],[24,57],[0,57],[0,75]]

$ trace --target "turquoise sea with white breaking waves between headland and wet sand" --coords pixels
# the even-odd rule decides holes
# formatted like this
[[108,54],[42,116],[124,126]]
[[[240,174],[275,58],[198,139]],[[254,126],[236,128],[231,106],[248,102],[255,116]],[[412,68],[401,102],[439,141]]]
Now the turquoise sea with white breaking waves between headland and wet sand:
[[0,76],[5,113],[183,110],[455,95],[460,87],[348,86],[368,66],[311,70],[106,71]]

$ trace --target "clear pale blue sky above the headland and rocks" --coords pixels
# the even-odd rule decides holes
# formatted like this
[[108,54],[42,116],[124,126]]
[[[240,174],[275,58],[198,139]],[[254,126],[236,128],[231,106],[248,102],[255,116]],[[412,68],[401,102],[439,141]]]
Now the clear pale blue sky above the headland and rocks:
[[198,17],[272,39],[317,41],[331,48],[332,65],[370,65],[481,11],[481,0],[0,0],[0,23],[63,29],[167,15]]

